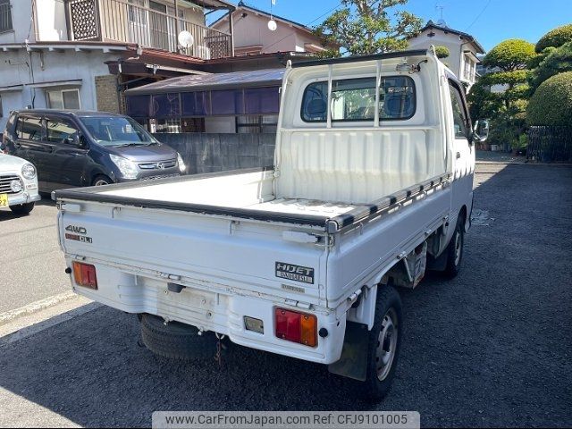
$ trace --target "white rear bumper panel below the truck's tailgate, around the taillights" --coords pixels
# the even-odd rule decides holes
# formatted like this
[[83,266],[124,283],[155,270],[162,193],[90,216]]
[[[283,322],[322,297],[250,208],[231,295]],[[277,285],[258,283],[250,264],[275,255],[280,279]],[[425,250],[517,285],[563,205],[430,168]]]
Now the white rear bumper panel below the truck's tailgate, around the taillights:
[[[71,259],[67,258],[68,266]],[[86,261],[89,264],[93,262]],[[140,273],[122,271],[114,266],[94,264],[97,270],[97,290],[71,284],[73,290],[89,299],[127,313],[148,313],[165,319],[190,324],[204,331],[219,332],[231,341],[252,349],[261,349],[284,356],[312,362],[331,364],[341,357],[346,319],[336,317],[335,310],[291,307],[284,299],[260,298],[248,290],[227,288],[223,292],[185,287],[176,293],[168,290],[167,279],[150,278]],[[205,285],[202,285],[205,286]],[[312,313],[317,317],[317,330],[325,328],[328,335],[318,336],[316,347],[276,338],[274,335],[275,307]],[[263,321],[264,333],[248,331],[244,316]]]

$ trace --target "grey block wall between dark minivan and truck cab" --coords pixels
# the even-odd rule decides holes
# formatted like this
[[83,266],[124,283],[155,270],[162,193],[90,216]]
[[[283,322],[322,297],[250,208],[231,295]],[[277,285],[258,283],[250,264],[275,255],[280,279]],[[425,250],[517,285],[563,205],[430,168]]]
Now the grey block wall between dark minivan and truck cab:
[[223,172],[274,163],[275,134],[154,134],[178,151],[188,173]]

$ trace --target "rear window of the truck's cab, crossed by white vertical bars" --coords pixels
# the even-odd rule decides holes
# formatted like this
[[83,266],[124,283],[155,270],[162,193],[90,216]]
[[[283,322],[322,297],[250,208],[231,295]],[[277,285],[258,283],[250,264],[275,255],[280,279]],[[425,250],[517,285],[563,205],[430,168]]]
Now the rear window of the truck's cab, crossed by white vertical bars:
[[[373,121],[375,78],[332,80],[332,122]],[[379,90],[379,119],[406,120],[416,111],[415,83],[408,76],[383,77]],[[310,83],[302,97],[304,122],[326,122],[328,82]]]

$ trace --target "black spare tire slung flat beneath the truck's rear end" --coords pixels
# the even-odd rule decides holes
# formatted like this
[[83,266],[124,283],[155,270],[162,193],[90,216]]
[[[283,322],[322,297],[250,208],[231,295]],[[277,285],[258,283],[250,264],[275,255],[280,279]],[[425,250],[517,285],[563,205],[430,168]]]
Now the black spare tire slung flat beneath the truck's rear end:
[[189,324],[170,322],[156,315],[141,316],[141,340],[143,344],[161,357],[178,360],[213,358],[216,353],[216,338],[213,332],[198,335],[198,329]]

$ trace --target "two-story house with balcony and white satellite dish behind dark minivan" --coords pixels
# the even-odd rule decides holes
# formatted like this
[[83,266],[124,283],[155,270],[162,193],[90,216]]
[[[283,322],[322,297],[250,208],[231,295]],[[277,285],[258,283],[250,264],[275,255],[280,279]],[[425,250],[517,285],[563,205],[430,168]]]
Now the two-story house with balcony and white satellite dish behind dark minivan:
[[[223,0],[0,0],[0,132],[11,110],[122,111],[122,90],[232,55]],[[178,35],[186,31],[186,46]],[[113,67],[112,65],[113,64]],[[112,70],[114,68],[114,70]]]

